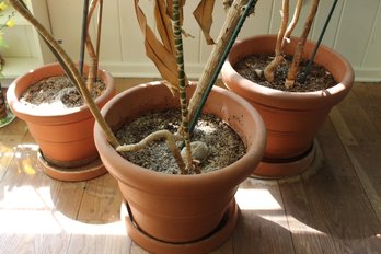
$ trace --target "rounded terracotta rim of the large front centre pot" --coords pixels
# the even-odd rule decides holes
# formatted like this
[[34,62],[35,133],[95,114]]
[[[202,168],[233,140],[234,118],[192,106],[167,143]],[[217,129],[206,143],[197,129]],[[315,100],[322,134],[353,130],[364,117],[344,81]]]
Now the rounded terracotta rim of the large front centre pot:
[[[129,90],[126,90],[119,94],[117,94],[116,96],[114,96],[101,111],[102,115],[105,116],[107,114],[107,112],[112,108],[113,104],[120,100],[124,96],[127,96],[128,94],[134,93],[135,91],[141,90],[141,89],[147,89],[150,88],[152,85],[160,85],[162,84],[160,81],[155,81],[155,82],[150,82],[150,83],[145,83],[145,84],[139,84],[135,88],[131,88]],[[145,182],[145,186],[150,185],[152,182],[151,181],[146,181],[145,178],[155,178],[155,183],[158,183],[155,186],[151,186],[150,192],[161,192],[160,188],[158,188],[158,186],[160,186],[161,184],[168,184],[168,185],[172,185],[173,189],[184,189],[184,188],[189,188],[190,185],[194,186],[198,186],[198,188],[196,188],[196,190],[198,193],[200,192],[205,192],[205,189],[208,186],[208,183],[211,182],[218,182],[221,183],[221,185],[223,186],[223,182],[227,182],[228,180],[235,180],[234,185],[236,185],[236,183],[242,182],[244,178],[246,178],[254,170],[254,166],[261,161],[262,159],[262,154],[264,152],[265,149],[265,145],[266,145],[266,129],[264,126],[264,123],[262,120],[262,117],[259,116],[259,114],[254,109],[254,107],[252,105],[250,105],[250,103],[247,103],[245,100],[243,100],[242,97],[238,96],[236,94],[222,89],[222,88],[213,88],[212,89],[213,92],[217,93],[222,93],[226,96],[232,97],[234,100],[239,100],[240,104],[242,104],[245,108],[249,108],[247,111],[250,111],[251,116],[255,119],[255,126],[253,126],[253,129],[255,129],[255,138],[252,141],[251,146],[249,148],[246,148],[246,153],[238,161],[235,161],[234,163],[223,168],[223,169],[219,169],[217,171],[212,171],[212,172],[208,172],[208,173],[203,173],[203,174],[194,174],[194,175],[171,175],[171,174],[165,174],[165,173],[161,173],[161,172],[155,172],[155,171],[151,171],[145,168],[141,168],[139,165],[136,165],[127,160],[125,160],[122,155],[119,155],[115,149],[106,141],[105,136],[103,135],[103,131],[100,127],[100,125],[97,123],[95,123],[95,127],[94,127],[94,136],[95,136],[95,146],[97,147],[99,151],[100,151],[100,155],[102,158],[102,161],[104,162],[104,164],[106,165],[106,168],[108,169],[109,173],[113,174],[114,177],[116,177],[118,181],[123,182],[124,184],[127,185],[134,185],[134,187],[139,188],[139,189],[145,189],[146,187],[142,186],[137,186],[135,185],[131,181],[129,181],[130,178],[143,178],[142,181]],[[259,152],[259,157],[253,157],[253,153],[258,153]],[[107,153],[107,155],[109,155],[109,158],[105,158],[103,154]],[[123,163],[126,165],[126,169],[128,168],[128,172],[127,170],[123,171],[123,170],[118,170],[118,172],[113,171],[113,169],[111,169],[108,165],[108,161],[113,161],[116,163]],[[253,168],[247,166],[247,164],[245,165],[245,163],[254,165]],[[240,173],[239,176],[236,176],[236,168],[240,169]],[[128,180],[128,183],[126,182],[126,178]],[[203,187],[204,186],[204,187]],[[231,186],[233,187],[233,186]],[[213,193],[213,192],[218,192],[218,189],[212,189],[212,190],[208,190],[208,193]],[[175,194],[173,194],[175,196]],[[195,195],[194,193],[189,193],[189,196]]]

